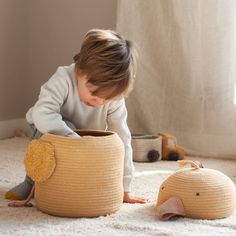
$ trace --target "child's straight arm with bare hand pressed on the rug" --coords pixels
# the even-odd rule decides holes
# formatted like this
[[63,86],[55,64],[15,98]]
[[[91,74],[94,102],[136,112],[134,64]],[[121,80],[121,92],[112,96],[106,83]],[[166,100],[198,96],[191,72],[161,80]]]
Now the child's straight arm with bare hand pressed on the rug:
[[147,200],[131,195],[131,181],[133,179],[134,166],[132,158],[131,134],[127,125],[127,110],[125,100],[111,102],[107,116],[108,129],[118,133],[125,146],[124,158],[124,202],[145,203]]

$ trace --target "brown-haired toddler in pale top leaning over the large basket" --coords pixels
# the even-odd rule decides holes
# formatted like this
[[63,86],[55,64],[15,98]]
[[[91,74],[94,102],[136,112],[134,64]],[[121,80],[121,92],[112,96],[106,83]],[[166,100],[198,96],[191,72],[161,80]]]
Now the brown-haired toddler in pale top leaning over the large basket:
[[[59,67],[41,87],[26,119],[33,139],[44,133],[79,138],[75,129],[117,132],[125,146],[124,202],[145,203],[145,198],[131,194],[134,167],[124,97],[132,89],[135,69],[136,53],[131,41],[115,31],[92,29],[85,35],[74,63]],[[26,175],[5,197],[24,200],[33,185]]]

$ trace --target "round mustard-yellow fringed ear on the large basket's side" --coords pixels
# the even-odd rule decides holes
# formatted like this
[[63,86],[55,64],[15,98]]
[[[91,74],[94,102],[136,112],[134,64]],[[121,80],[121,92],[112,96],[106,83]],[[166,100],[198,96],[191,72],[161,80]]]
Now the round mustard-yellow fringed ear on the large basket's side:
[[47,180],[56,167],[54,146],[42,140],[33,140],[25,153],[25,169],[35,182]]

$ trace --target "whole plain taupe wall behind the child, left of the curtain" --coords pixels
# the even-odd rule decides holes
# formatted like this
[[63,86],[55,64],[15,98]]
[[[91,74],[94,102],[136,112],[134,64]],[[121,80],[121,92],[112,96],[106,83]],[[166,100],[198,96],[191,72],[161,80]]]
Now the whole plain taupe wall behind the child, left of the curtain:
[[0,0],[0,122],[25,117],[39,87],[59,65],[72,63],[89,29],[115,28],[116,5],[117,0]]

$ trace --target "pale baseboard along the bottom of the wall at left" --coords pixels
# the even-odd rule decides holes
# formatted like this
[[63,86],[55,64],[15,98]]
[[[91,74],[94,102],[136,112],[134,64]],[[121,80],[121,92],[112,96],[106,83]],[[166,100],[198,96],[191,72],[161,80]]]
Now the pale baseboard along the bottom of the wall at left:
[[0,121],[0,139],[16,136],[19,133],[28,133],[29,127],[24,118]]

